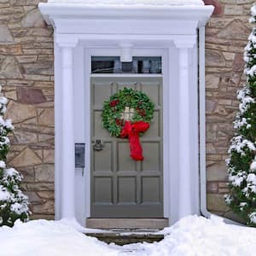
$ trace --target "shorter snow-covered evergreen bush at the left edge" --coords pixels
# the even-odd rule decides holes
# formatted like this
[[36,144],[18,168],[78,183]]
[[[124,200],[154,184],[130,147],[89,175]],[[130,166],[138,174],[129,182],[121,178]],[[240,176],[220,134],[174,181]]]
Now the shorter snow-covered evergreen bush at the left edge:
[[11,120],[3,119],[6,104],[7,99],[0,96],[0,226],[13,226],[18,218],[28,219],[29,209],[27,196],[19,188],[22,176],[14,168],[6,168],[5,164],[9,152],[7,136],[14,130]]

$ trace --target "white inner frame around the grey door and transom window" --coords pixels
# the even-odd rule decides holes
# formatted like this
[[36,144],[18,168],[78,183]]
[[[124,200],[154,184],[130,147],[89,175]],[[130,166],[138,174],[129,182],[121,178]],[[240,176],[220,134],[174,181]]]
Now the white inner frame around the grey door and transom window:
[[[173,88],[168,86],[168,72],[167,72],[167,64],[168,64],[168,50],[167,49],[132,49],[132,55],[135,56],[161,56],[162,57],[162,73],[163,75],[148,75],[148,74],[111,74],[107,75],[108,77],[155,77],[155,76],[160,76],[163,78],[163,109],[168,109],[168,104],[170,101],[168,101],[168,95],[169,95],[169,90],[173,90]],[[85,56],[84,56],[84,61],[87,63],[85,65],[86,67],[90,67],[90,60],[92,55],[98,55],[98,56],[116,56],[119,55],[119,49],[103,49],[103,48],[98,48],[98,49],[85,49]],[[85,144],[88,145],[86,147],[86,162],[88,163],[86,165],[86,172],[90,174],[90,77],[96,77],[96,76],[104,76],[104,75],[90,75],[90,68],[87,68],[87,70],[84,73],[84,86],[85,86],[85,95],[86,95],[86,105],[85,105],[85,116],[88,117],[85,120]],[[165,92],[165,93],[164,93]],[[172,93],[172,95],[174,95]],[[175,107],[175,106],[173,106]],[[166,112],[163,111],[163,115]],[[163,131],[163,137],[168,137],[169,134],[169,128],[168,128],[168,119],[164,118],[166,121],[164,121],[164,131]],[[172,130],[172,127],[170,128]],[[175,132],[172,132],[174,134]],[[164,198],[164,217],[169,218],[170,216],[170,200],[169,200],[169,195],[170,195],[170,178],[169,178],[169,168],[167,164],[168,160],[168,155],[170,155],[170,150],[172,151],[172,148],[169,148],[168,144],[166,143],[165,140],[163,140],[163,198]],[[85,195],[86,195],[86,200],[85,200],[85,218],[90,218],[90,175],[85,176]]]

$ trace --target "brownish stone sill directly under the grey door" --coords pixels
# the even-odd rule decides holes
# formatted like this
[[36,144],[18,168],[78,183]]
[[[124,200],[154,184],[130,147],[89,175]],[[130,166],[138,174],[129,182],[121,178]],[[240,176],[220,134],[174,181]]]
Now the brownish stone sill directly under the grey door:
[[102,230],[162,230],[168,218],[86,218],[86,227]]

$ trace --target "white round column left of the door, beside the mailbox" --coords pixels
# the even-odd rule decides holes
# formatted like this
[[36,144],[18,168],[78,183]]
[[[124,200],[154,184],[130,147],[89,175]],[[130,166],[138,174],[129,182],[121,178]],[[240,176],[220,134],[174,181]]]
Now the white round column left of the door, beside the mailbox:
[[62,45],[61,218],[75,218],[73,48]]

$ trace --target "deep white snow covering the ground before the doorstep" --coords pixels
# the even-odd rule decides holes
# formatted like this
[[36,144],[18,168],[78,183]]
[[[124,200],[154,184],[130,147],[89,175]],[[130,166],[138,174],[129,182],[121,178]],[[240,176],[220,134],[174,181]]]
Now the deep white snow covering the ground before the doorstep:
[[224,224],[220,218],[183,218],[162,231],[163,241],[124,247],[84,236],[58,221],[35,220],[0,228],[1,256],[254,256],[256,229]]

